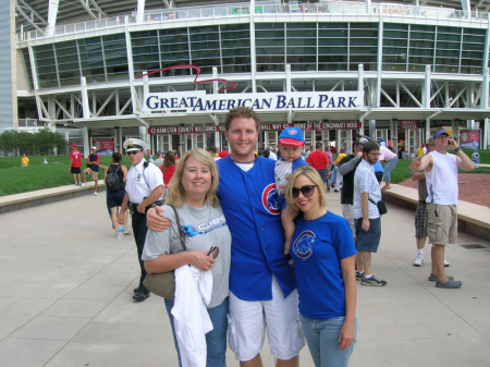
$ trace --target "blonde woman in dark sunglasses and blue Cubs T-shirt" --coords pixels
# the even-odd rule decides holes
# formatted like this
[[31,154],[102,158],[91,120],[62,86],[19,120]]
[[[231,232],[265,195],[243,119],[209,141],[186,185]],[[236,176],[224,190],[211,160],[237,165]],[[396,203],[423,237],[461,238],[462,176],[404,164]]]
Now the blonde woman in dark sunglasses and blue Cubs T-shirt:
[[286,210],[301,210],[290,247],[299,318],[316,367],[347,366],[356,340],[355,245],[347,220],[327,211],[326,186],[311,167],[296,169]]

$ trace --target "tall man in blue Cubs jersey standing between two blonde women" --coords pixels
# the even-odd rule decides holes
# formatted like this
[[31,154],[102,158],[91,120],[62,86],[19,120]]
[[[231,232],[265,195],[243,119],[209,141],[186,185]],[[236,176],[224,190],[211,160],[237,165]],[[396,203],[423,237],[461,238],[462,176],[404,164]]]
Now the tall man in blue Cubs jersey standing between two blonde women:
[[[294,270],[283,254],[275,161],[254,154],[259,120],[249,108],[226,114],[231,156],[217,162],[218,195],[232,234],[230,269],[230,348],[242,367],[261,366],[266,328],[277,366],[297,366],[305,345],[298,322]],[[161,210],[148,212],[148,227],[166,228]],[[167,228],[170,223],[167,223]]]

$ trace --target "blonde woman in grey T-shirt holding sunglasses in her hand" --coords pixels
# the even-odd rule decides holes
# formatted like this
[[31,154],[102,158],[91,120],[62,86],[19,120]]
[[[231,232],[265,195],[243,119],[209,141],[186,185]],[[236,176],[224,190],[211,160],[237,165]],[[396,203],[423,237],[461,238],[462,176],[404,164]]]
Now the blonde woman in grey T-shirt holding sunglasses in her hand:
[[[168,272],[184,265],[211,271],[212,293],[207,310],[213,330],[206,334],[206,365],[222,367],[225,366],[226,354],[231,234],[216,195],[218,183],[218,168],[212,157],[201,148],[187,151],[169,183],[166,199],[166,203],[173,205],[177,211],[187,250],[182,248],[173,209],[164,205],[163,217],[172,224],[163,232],[148,230],[142,258],[148,273]],[[219,256],[216,259],[208,255],[212,246],[219,247]],[[164,303],[179,353],[171,314],[174,302],[164,299]],[[180,353],[179,364],[181,365]]]

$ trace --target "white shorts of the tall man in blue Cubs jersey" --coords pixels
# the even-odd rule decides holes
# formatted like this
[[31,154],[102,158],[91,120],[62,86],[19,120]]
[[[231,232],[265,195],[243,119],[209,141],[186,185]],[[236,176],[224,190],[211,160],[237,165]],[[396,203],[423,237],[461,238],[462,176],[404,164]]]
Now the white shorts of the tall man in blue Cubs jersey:
[[271,301],[243,301],[230,292],[228,335],[230,348],[236,359],[246,362],[260,353],[266,335],[270,353],[287,360],[299,354],[305,337],[299,323],[297,291],[287,298],[272,277]]

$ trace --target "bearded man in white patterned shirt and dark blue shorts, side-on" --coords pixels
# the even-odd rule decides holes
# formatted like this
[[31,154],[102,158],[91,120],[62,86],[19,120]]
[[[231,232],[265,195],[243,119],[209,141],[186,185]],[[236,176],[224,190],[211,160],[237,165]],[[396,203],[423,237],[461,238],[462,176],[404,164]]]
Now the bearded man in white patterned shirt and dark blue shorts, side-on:
[[360,279],[360,285],[370,286],[387,284],[387,281],[376,278],[371,272],[371,254],[378,252],[381,240],[381,218],[375,204],[382,198],[373,168],[378,156],[379,145],[376,142],[364,144],[363,160],[354,175],[354,225],[357,237],[356,249],[360,257],[356,279]]

